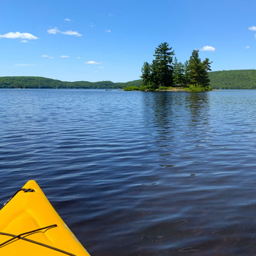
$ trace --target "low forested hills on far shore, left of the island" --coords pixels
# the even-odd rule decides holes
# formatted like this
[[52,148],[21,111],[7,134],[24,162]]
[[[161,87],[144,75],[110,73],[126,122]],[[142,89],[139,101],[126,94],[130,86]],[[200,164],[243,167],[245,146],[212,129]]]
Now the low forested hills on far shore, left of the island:
[[141,80],[127,83],[101,82],[62,82],[60,80],[37,76],[4,76],[0,77],[2,88],[27,88],[27,89],[122,89],[126,86],[140,86]]

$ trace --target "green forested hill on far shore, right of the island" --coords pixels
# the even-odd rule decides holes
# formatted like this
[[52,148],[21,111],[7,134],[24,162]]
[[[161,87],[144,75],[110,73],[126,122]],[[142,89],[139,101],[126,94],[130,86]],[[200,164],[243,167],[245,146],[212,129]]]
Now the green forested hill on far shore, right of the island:
[[223,70],[209,73],[212,89],[256,89],[256,70]]

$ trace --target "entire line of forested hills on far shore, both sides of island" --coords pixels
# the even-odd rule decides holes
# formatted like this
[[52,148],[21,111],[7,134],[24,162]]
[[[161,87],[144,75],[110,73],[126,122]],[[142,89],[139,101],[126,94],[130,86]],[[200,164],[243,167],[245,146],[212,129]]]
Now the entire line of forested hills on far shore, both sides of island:
[[[212,89],[256,89],[256,70],[222,70],[209,73]],[[37,76],[0,77],[1,88],[31,89],[123,89],[126,86],[140,87],[142,79],[127,83],[101,82],[62,82],[60,80]]]

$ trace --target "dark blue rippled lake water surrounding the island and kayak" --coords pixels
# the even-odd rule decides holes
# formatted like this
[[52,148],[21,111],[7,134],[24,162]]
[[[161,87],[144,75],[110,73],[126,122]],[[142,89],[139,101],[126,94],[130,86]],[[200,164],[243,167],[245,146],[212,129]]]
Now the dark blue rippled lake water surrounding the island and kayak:
[[92,256],[256,255],[256,91],[0,90],[0,202],[35,179]]

